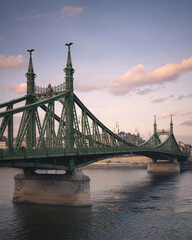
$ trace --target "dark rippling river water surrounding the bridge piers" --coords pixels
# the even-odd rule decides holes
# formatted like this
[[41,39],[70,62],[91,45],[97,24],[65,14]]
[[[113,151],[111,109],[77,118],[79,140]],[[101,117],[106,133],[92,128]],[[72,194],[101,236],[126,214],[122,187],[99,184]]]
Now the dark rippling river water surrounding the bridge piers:
[[86,208],[13,204],[17,172],[0,169],[0,240],[192,239],[192,171],[86,169]]

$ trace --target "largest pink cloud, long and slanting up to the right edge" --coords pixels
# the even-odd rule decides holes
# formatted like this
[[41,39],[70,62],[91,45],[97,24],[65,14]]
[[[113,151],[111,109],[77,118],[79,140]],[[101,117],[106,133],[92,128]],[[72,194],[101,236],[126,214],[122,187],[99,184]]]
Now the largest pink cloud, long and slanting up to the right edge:
[[176,80],[180,75],[189,71],[192,71],[192,57],[183,59],[178,64],[166,64],[152,72],[149,72],[143,64],[138,64],[115,80],[109,87],[116,95],[126,95],[141,86],[161,84]]

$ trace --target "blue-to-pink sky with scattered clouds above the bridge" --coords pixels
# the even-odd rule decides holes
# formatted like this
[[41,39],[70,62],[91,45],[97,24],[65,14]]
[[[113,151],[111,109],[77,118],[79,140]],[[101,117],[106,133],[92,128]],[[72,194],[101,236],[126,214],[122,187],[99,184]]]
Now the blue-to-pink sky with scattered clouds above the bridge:
[[0,0],[0,102],[64,82],[72,42],[74,92],[109,129],[148,139],[154,115],[192,144],[191,0]]

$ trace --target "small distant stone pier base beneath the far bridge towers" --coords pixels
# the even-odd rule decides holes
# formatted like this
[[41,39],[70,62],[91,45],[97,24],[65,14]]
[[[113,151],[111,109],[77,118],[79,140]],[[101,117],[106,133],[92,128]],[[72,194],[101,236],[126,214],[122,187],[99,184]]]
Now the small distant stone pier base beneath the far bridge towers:
[[147,166],[147,172],[150,173],[178,173],[180,172],[180,164],[177,162],[168,163],[149,163]]

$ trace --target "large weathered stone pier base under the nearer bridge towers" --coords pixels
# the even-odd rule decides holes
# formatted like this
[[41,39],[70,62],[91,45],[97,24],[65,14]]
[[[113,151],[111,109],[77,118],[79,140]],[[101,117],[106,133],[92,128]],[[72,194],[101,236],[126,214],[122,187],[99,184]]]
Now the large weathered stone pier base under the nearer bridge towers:
[[15,177],[13,202],[63,206],[90,206],[90,178],[76,169],[65,174],[30,174]]

